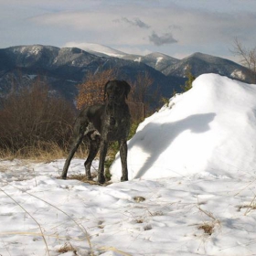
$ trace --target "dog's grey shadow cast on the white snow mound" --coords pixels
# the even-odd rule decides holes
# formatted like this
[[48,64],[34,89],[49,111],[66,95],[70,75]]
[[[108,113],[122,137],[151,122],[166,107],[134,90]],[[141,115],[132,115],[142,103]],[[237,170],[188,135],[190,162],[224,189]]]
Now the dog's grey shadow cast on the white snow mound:
[[[172,144],[180,133],[187,130],[190,130],[192,133],[208,132],[210,129],[209,123],[214,120],[215,116],[216,113],[209,112],[191,115],[174,123],[146,124],[140,132],[135,133],[133,140],[129,142],[128,146],[129,151],[133,151],[133,147],[141,147],[141,150],[148,155],[144,165],[137,173],[134,173],[133,178],[144,176],[147,170],[155,164],[158,157],[165,151],[166,147]],[[186,144],[183,146],[186,147]],[[172,155],[170,155],[170,161],[172,161]]]

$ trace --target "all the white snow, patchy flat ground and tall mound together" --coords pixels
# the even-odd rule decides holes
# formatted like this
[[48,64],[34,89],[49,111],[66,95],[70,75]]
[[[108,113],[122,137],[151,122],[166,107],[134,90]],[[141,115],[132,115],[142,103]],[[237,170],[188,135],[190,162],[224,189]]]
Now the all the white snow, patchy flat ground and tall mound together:
[[198,77],[140,124],[128,182],[118,155],[107,187],[58,179],[63,159],[0,161],[0,255],[256,255],[255,99]]

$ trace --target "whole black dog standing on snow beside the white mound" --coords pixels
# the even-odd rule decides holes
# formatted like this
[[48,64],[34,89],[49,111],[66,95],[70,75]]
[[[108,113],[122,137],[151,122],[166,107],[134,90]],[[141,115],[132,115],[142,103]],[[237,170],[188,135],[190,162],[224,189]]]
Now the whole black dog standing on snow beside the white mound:
[[104,104],[96,104],[83,109],[74,125],[74,141],[63,167],[62,179],[67,178],[70,161],[81,141],[89,141],[89,155],[84,163],[88,179],[91,179],[91,162],[100,148],[98,182],[105,182],[104,161],[108,144],[118,141],[122,163],[121,181],[128,180],[127,137],[131,126],[131,114],[126,103],[131,86],[124,80],[109,80],[104,86]]

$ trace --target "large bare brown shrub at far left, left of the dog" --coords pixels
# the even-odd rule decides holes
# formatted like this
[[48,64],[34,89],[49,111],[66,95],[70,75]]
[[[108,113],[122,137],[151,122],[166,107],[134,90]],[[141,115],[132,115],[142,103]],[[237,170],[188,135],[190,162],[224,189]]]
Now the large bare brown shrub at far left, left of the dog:
[[38,149],[66,148],[74,120],[74,109],[51,95],[48,86],[35,82],[13,91],[0,110],[0,147],[14,155],[28,155]]

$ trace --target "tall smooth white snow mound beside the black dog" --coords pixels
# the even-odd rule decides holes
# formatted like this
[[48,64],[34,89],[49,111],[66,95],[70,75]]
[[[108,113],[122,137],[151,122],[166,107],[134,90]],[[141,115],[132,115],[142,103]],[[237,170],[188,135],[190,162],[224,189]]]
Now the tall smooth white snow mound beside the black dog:
[[[145,119],[128,142],[129,180],[196,174],[232,177],[256,169],[256,86],[216,74]],[[111,167],[120,181],[119,154]]]

